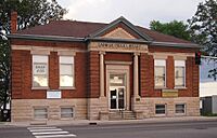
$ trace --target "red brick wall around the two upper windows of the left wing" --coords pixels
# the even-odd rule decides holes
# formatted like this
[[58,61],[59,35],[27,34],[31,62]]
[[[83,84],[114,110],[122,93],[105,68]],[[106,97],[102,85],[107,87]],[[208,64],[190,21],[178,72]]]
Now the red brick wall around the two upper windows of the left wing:
[[[50,43],[51,44],[51,43]],[[44,46],[44,45],[42,45]],[[52,45],[51,45],[52,46]],[[58,45],[56,45],[58,46]],[[62,46],[62,45],[61,45]],[[77,52],[75,56],[76,89],[63,89],[63,98],[87,97],[87,53]],[[46,98],[47,89],[31,89],[31,54],[30,51],[12,51],[12,98],[41,99]],[[58,52],[49,55],[49,87],[59,89],[59,56]]]

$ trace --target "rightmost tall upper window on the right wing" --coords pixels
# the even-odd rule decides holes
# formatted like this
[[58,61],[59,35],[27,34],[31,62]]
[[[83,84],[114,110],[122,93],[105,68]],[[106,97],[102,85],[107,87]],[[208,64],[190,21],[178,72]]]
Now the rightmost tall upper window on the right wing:
[[175,60],[175,87],[186,86],[186,60]]

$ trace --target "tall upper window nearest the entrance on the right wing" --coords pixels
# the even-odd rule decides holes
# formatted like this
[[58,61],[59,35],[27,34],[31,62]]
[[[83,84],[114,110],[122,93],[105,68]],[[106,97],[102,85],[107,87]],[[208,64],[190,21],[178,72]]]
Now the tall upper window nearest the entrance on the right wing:
[[155,87],[166,87],[166,60],[154,60],[154,84]]

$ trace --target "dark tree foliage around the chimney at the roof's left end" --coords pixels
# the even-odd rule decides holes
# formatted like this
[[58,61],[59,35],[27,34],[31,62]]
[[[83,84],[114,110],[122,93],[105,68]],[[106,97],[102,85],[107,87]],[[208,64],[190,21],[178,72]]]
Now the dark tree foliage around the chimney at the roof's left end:
[[63,18],[67,12],[56,0],[1,0],[0,18],[2,26],[9,29],[11,12],[18,13],[18,30],[36,25],[48,24],[50,19],[58,20]]

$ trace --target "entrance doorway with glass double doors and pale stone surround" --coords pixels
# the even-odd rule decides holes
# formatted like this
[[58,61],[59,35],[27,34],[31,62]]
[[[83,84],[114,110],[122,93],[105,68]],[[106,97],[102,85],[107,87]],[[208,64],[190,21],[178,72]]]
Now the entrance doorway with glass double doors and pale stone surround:
[[[112,64],[112,65],[111,65]],[[106,65],[106,97],[108,110],[130,110],[130,64],[107,63]]]

